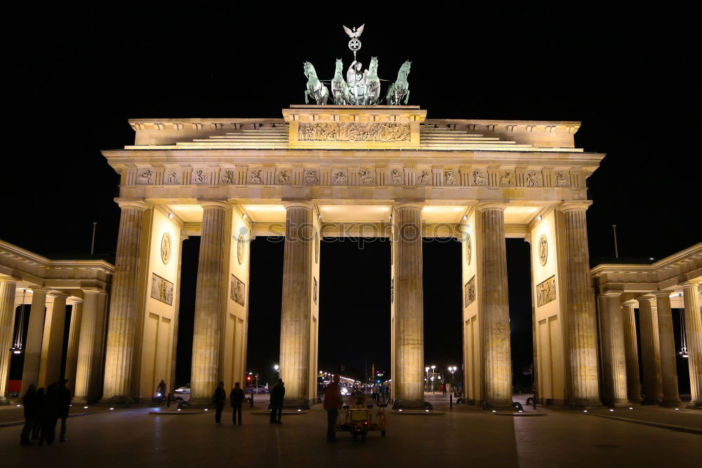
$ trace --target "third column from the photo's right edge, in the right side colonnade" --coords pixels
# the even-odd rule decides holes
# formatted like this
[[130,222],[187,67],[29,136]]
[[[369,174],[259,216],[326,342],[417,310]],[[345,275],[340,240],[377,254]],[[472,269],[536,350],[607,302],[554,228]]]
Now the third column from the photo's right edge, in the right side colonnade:
[[658,313],[653,297],[640,297],[641,361],[644,370],[644,405],[661,403],[661,354],[658,338]]

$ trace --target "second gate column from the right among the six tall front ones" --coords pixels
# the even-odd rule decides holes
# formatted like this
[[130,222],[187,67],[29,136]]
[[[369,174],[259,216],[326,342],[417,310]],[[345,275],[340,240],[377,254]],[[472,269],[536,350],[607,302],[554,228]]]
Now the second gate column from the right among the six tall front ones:
[[503,203],[479,204],[479,236],[482,238],[482,334],[487,408],[512,408],[512,355],[510,349],[510,302],[507,285]]

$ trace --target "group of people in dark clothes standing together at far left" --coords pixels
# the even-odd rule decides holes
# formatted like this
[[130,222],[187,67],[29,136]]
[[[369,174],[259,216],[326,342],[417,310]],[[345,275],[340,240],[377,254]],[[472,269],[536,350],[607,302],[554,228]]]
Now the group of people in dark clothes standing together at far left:
[[61,420],[58,441],[66,441],[66,418],[71,407],[71,391],[67,383],[68,379],[62,379],[39,390],[34,384],[29,385],[22,397],[25,409],[25,427],[20,434],[22,446],[33,446],[32,440],[39,441],[40,446],[46,441],[50,446],[56,436],[58,420]]

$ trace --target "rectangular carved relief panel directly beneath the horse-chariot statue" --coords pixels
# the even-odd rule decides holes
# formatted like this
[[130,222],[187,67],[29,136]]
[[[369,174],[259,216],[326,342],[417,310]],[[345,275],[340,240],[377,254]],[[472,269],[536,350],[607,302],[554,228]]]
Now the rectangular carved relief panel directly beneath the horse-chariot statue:
[[298,141],[410,141],[410,131],[409,124],[301,123]]

